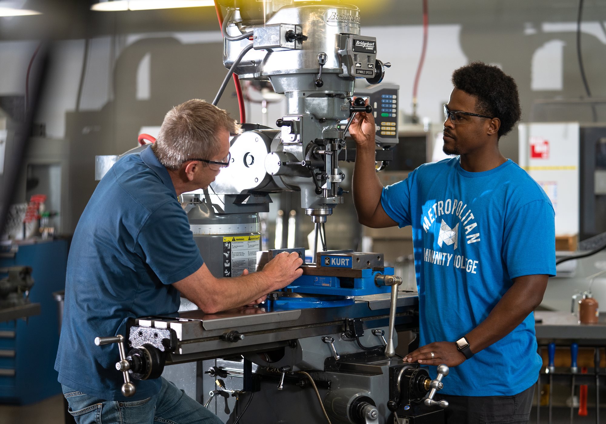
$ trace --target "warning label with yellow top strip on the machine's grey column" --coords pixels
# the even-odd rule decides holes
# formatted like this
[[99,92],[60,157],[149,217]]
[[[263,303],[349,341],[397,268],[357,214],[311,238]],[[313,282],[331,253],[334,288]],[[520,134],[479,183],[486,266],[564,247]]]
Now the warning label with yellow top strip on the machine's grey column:
[[244,270],[255,272],[260,239],[259,234],[223,237],[224,277],[239,277]]

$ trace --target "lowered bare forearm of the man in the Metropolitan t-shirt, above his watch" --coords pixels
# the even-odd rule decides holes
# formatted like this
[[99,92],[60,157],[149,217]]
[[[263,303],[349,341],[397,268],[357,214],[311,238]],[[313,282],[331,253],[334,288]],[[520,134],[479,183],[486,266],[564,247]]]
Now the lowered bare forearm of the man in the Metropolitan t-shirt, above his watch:
[[546,287],[547,276],[516,279],[488,317],[465,336],[471,351],[478,353],[511,333],[541,303]]

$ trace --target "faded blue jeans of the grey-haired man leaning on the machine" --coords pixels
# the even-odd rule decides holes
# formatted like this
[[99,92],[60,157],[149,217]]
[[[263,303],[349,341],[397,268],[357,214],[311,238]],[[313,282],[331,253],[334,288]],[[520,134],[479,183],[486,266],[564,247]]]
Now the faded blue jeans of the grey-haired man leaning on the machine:
[[62,385],[78,424],[222,424],[221,420],[163,377],[155,396],[134,402],[98,399]]

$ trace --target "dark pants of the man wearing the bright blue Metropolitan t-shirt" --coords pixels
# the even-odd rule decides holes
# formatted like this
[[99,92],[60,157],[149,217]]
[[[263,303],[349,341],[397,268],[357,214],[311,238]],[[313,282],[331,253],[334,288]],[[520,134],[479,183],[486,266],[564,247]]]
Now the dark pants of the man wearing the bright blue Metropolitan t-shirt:
[[446,424],[526,424],[532,408],[534,385],[513,396],[451,396],[447,400]]

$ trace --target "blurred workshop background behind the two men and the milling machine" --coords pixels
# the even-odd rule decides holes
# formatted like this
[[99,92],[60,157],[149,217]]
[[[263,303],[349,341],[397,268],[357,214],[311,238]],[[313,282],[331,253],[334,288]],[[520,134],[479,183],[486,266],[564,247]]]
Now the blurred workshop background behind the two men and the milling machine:
[[[92,10],[95,3],[0,1],[0,206],[5,221],[0,272],[6,271],[7,285],[33,279],[26,300],[0,290],[0,424],[64,422],[53,369],[61,290],[70,236],[98,183],[95,157],[137,147],[141,133],[156,135],[175,105],[191,98],[210,101],[227,72],[212,2],[118,12]],[[396,160],[379,174],[384,184],[401,180],[422,163],[444,159],[442,104],[452,89],[451,73],[470,61],[484,61],[518,83],[522,121],[499,147],[550,196],[558,254],[591,250],[606,240],[606,1],[347,3],[360,8],[362,35],[375,36],[381,60],[391,62],[384,83],[399,85],[399,144],[393,149]],[[10,16],[10,8],[35,14]],[[286,113],[281,94],[248,81],[242,81],[242,90],[248,122],[275,127]],[[239,117],[233,81],[219,107]],[[342,187],[348,190],[353,164],[342,169]],[[298,194],[272,197],[270,211],[261,214],[263,247],[310,249],[313,224],[302,214]],[[329,249],[384,252],[404,279],[402,290],[416,290],[410,229],[362,227],[349,194],[327,220],[326,234]],[[16,266],[31,267],[31,274],[8,274],[7,268]],[[539,309],[572,317],[572,296],[591,290],[606,311],[606,274],[592,277],[602,270],[604,252],[563,264]],[[21,312],[2,315],[3,306],[17,303]],[[586,346],[579,367],[593,373],[593,346],[606,344],[606,326],[585,327],[578,337]],[[542,341],[546,346],[553,340]],[[570,340],[562,342],[555,366],[564,369],[570,366]],[[547,350],[542,349],[546,366]],[[602,349],[601,373],[605,366]],[[550,389],[543,380],[547,387],[534,402],[547,405],[551,394],[554,407],[564,411],[554,414],[554,422],[568,422],[571,405],[575,422],[595,422],[594,385],[585,389],[587,412],[579,416],[583,406],[579,409],[578,393],[570,396],[567,381]],[[536,422],[536,409],[532,417]],[[545,414],[541,422],[547,422]]]

